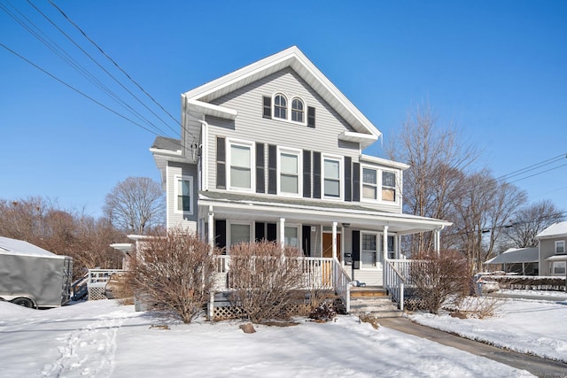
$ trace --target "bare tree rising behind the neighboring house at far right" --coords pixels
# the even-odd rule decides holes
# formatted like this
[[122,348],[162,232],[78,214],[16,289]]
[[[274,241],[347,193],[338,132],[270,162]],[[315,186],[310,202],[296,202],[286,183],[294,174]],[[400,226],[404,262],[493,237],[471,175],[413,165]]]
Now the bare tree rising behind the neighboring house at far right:
[[535,235],[565,219],[564,212],[549,200],[522,207],[504,229],[516,248],[537,247]]

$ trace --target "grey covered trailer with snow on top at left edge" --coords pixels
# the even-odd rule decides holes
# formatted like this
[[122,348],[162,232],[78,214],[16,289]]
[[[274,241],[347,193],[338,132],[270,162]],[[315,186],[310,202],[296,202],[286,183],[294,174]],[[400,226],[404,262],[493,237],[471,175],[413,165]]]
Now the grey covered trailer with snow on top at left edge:
[[73,258],[0,236],[0,298],[34,308],[65,305],[72,272]]

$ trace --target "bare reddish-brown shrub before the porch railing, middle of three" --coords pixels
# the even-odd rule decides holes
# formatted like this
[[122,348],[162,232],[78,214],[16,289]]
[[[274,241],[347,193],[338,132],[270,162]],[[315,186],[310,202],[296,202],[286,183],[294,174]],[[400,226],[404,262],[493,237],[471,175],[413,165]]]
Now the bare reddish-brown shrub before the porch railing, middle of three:
[[229,295],[254,323],[288,320],[292,306],[303,303],[302,269],[295,248],[276,243],[243,243],[230,248]]

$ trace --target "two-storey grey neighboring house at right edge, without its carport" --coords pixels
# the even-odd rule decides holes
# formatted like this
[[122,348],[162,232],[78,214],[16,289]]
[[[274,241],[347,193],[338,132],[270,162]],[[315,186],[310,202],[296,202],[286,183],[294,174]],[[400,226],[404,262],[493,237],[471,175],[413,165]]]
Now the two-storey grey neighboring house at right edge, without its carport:
[[536,238],[540,241],[540,275],[565,275],[567,221],[552,224]]

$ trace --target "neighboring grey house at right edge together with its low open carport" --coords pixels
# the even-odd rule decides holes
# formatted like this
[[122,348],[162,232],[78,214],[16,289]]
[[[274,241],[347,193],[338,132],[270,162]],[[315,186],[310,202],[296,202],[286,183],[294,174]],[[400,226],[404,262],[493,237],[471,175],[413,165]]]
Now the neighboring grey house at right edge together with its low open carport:
[[567,221],[554,223],[536,235],[537,247],[509,249],[485,265],[502,266],[507,273],[541,276],[565,275],[567,263]]

